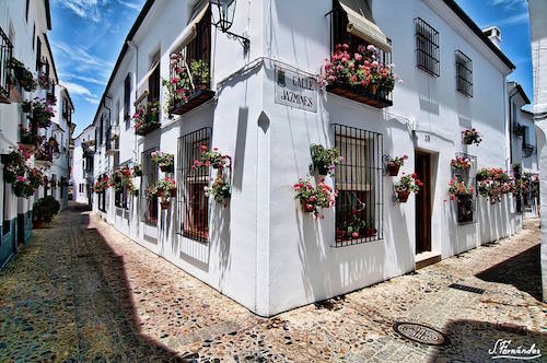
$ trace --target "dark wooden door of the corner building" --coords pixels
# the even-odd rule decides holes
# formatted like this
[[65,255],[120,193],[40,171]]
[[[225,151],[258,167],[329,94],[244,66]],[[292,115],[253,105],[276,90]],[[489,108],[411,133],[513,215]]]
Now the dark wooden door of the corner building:
[[431,250],[431,167],[430,155],[416,153],[416,174],[423,187],[416,195],[416,253]]

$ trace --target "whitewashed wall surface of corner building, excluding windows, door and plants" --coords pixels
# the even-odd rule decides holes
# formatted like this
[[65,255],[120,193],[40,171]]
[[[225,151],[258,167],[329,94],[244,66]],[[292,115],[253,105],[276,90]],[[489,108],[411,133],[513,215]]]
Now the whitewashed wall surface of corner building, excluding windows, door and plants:
[[[336,207],[316,221],[294,200],[292,185],[310,174],[311,144],[334,147],[334,125],[342,125],[383,138],[376,144],[376,160],[386,154],[410,155],[403,167],[407,174],[415,171],[415,151],[427,153],[431,255],[446,258],[520,230],[522,215],[514,211],[510,196],[493,206],[478,198],[475,223],[465,225],[456,223],[455,203],[445,201],[450,163],[457,153],[477,156],[477,167],[510,167],[505,77],[513,68],[485,42],[476,25],[456,13],[452,1],[372,1],[374,21],[392,42],[393,62],[403,80],[395,86],[393,106],[374,108],[318,91],[316,112],[276,103],[276,68],[319,73],[330,54],[330,22],[325,14],[331,11],[333,1],[238,1],[230,31],[246,35],[251,47],[244,54],[236,40],[211,27],[216,97],[173,120],[162,113],[161,129],[138,137],[132,122],[124,120],[125,80],[129,74],[128,114],[132,115],[133,102],[140,96],[137,90],[149,77],[158,51],[161,77],[170,79],[171,51],[188,31],[193,5],[167,0],[144,5],[93,122],[102,139],[94,176],[117,165],[140,164],[142,153],[156,148],[175,155],[177,187],[187,192],[179,168],[189,165],[181,159],[179,138],[211,128],[211,145],[233,161],[231,201],[224,208],[209,200],[209,236],[202,243],[178,233],[184,218],[182,200],[160,210],[158,225],[150,225],[143,221],[147,201],[142,187],[139,197],[129,198],[126,209],[114,206],[112,188],[106,191],[104,209],[95,194],[94,210],[116,229],[263,316],[412,271],[420,209],[415,197],[407,203],[394,201],[395,178],[380,175],[374,182],[379,190],[374,223],[383,238],[369,243],[335,247]],[[417,17],[440,34],[440,77],[416,67]],[[473,60],[473,97],[456,91],[456,50]],[[118,127],[119,147],[107,152],[104,136],[108,125]],[[462,144],[461,132],[469,128],[484,136],[480,145]],[[136,183],[140,185],[140,179]],[[327,177],[326,183],[337,187],[336,178]]]

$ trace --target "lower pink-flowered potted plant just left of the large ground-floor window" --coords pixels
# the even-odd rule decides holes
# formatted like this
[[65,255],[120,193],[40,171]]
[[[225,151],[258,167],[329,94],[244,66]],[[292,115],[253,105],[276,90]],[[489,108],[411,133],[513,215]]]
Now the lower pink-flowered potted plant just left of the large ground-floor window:
[[300,178],[293,185],[295,192],[294,199],[300,200],[302,210],[306,213],[312,213],[315,218],[322,216],[321,210],[323,208],[330,208],[335,203],[337,196],[333,188],[325,184],[325,178],[319,179],[317,187],[314,187],[310,179]]

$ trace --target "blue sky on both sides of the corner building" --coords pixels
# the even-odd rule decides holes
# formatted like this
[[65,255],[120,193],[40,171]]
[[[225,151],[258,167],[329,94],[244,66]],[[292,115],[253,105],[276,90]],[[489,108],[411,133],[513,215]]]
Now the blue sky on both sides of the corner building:
[[[179,0],[183,1],[183,0]],[[404,1],[404,0],[399,0]],[[49,40],[61,83],[74,102],[75,134],[95,116],[124,39],[146,0],[51,0]],[[481,27],[501,30],[501,48],[515,63],[510,75],[532,99],[526,0],[456,0]]]

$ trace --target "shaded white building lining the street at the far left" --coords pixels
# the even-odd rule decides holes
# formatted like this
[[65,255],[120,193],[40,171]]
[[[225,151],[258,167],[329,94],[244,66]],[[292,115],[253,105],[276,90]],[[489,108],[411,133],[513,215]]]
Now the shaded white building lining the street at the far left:
[[[37,132],[59,143],[58,153],[51,159],[51,163],[38,161],[36,155],[32,156],[28,164],[34,167],[47,167],[46,175],[51,179],[55,175],[57,184],[55,197],[61,207],[67,206],[66,186],[58,182],[68,180],[69,160],[68,142],[70,140],[70,114],[73,109],[70,96],[65,87],[57,85],[58,77],[55,62],[47,39],[47,32],[51,30],[51,19],[48,0],[12,1],[0,0],[0,154],[9,154],[11,150],[22,144],[20,126],[30,128],[28,113],[23,113],[22,103],[35,97],[51,98],[58,102],[51,126],[40,128]],[[19,60],[23,68],[32,73],[40,83],[34,91],[25,91],[18,80],[14,70],[9,65]],[[28,73],[28,74],[31,74]],[[62,110],[61,106],[66,109]],[[53,142],[51,139],[51,143]],[[2,169],[5,165],[2,163]],[[4,171],[5,173],[5,171]],[[11,183],[4,179],[4,173],[0,173],[0,185],[2,186],[0,198],[2,202],[2,233],[0,243],[0,266],[2,266],[16,250],[19,246],[26,243],[32,235],[32,209],[36,197],[46,192],[40,187],[34,197],[18,198]]]

